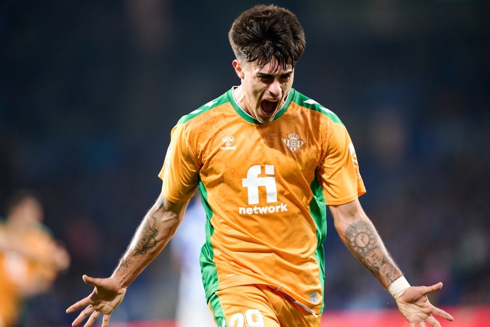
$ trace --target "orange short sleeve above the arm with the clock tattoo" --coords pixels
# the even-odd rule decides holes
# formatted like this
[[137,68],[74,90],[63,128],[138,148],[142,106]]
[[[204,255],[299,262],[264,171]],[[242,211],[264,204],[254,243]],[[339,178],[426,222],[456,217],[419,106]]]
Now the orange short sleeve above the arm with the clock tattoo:
[[327,205],[348,203],[366,193],[354,145],[342,124],[332,122],[328,128],[326,154],[318,178]]

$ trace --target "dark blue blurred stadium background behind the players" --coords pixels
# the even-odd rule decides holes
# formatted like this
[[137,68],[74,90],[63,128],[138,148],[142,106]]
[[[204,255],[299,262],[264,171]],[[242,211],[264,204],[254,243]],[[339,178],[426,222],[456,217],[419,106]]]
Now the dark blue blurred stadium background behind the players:
[[[62,326],[106,277],[160,192],[172,126],[239,80],[227,40],[253,1],[0,1],[0,216],[41,196],[69,270],[23,326]],[[490,2],[275,1],[302,23],[294,88],[336,112],[356,146],[360,200],[412,284],[442,306],[490,302]],[[327,310],[395,306],[330,215]],[[165,249],[111,321],[172,319]]]

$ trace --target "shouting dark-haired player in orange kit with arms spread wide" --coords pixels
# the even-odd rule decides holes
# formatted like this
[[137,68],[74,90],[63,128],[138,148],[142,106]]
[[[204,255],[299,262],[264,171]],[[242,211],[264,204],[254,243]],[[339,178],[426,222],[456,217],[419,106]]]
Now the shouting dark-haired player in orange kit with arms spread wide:
[[[200,263],[206,300],[219,327],[320,325],[326,205],[355,257],[387,289],[411,327],[453,320],[410,286],[358,197],[366,192],[352,141],[332,111],[292,88],[305,48],[293,13],[274,5],[243,12],[229,31],[241,80],[182,117],[172,129],[162,191],[109,278],[67,309],[85,307],[91,326],[108,326],[126,288],[175,232],[199,188],[207,214]],[[192,314],[192,313],[189,313]]]

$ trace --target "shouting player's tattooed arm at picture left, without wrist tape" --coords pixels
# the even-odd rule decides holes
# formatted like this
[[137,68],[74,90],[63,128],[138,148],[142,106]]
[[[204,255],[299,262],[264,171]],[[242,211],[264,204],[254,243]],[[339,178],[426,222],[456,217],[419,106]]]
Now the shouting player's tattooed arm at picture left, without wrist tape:
[[85,326],[92,326],[100,314],[103,314],[102,327],[109,326],[110,315],[123,301],[126,288],[170,241],[184,217],[188,203],[189,201],[173,203],[160,194],[143,218],[112,276],[82,277],[87,284],[95,288],[88,297],[66,310],[67,313],[73,313],[85,307],[72,326],[77,326],[89,316]]

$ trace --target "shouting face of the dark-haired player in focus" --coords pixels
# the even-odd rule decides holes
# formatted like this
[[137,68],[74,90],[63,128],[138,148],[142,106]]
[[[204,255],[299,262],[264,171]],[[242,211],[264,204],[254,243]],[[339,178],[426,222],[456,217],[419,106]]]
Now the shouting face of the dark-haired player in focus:
[[242,109],[260,123],[272,122],[293,86],[293,67],[288,65],[284,69],[275,59],[263,67],[238,61],[233,65],[242,78],[244,99],[239,101]]

